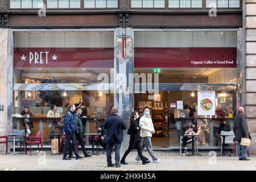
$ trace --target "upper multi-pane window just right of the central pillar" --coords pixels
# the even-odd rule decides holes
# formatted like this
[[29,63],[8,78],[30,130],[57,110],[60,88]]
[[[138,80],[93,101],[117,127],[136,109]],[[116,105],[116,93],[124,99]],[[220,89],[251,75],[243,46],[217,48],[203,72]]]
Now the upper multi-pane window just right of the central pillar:
[[164,0],[131,0],[131,7],[163,8]]

